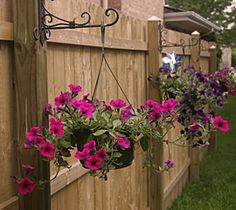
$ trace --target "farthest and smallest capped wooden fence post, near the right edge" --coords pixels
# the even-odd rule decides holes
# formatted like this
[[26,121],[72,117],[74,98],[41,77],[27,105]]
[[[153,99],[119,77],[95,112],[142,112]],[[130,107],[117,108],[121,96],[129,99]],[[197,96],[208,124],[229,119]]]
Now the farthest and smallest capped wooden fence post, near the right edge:
[[[209,73],[214,73],[217,69],[217,55],[216,55],[216,43],[210,42],[209,43],[209,52],[210,52],[210,59],[209,59]],[[210,134],[209,138],[210,142],[210,150],[214,150],[217,147],[216,142],[216,132]]]

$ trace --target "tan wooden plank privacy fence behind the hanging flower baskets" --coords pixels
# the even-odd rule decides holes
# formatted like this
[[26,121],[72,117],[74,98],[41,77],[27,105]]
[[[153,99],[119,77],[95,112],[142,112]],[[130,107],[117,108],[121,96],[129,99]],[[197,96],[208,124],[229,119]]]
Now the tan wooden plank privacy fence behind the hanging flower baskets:
[[[73,19],[80,12],[88,11],[94,18],[94,22],[100,22],[104,13],[102,8],[78,0],[63,1],[63,3],[48,2],[47,7],[58,16],[66,19]],[[13,35],[13,28],[15,30],[18,28],[14,25],[15,22],[13,23],[12,12],[17,10],[16,0],[4,0],[0,8],[0,110],[2,113],[0,118],[0,163],[2,167],[0,210],[18,210],[20,207],[19,199],[16,196],[16,187],[9,177],[16,174],[15,169],[18,166],[16,133],[19,133],[22,127],[25,130],[28,129],[29,125],[24,123],[25,121],[20,122],[19,116],[21,115],[18,113],[19,108],[17,109],[19,104],[22,107],[26,105],[19,102],[21,90],[16,91],[21,84],[17,80],[19,79],[17,71],[20,64],[16,57],[19,57],[17,55],[19,46],[13,44],[18,42],[16,37],[19,37],[16,35],[16,31]],[[184,54],[181,48],[164,48],[160,53],[157,45],[160,39],[159,25],[160,22],[155,19],[141,21],[121,15],[119,22],[106,30],[105,52],[107,60],[134,106],[139,106],[152,96],[154,90],[148,84],[147,78],[150,73],[158,73],[157,67],[161,65],[162,53],[174,51],[184,57],[186,65],[193,64],[193,59],[195,59],[195,65],[200,65],[206,71],[209,70],[209,62],[212,63],[215,59],[214,53],[211,53],[212,57],[210,57],[209,43],[207,42],[202,42],[202,46],[206,49],[204,52],[201,52],[202,48],[197,45],[191,48],[186,47]],[[21,25],[19,25],[20,27]],[[20,30],[19,28],[17,30]],[[153,32],[155,33],[152,34]],[[31,31],[25,33],[31,33]],[[191,43],[192,37],[168,30],[167,39],[174,43],[178,43],[180,39]],[[155,45],[155,43],[157,44]],[[24,43],[22,45],[24,46]],[[24,50],[30,52],[32,49],[25,48]],[[94,87],[100,60],[99,29],[54,31],[47,44],[45,62],[47,80],[37,81],[48,87],[49,102],[53,102],[54,97],[61,90],[66,90],[70,83],[80,84],[83,87],[83,93],[88,93]],[[27,82],[25,81],[25,83]],[[40,97],[40,94],[37,97]],[[102,71],[97,97],[106,101],[112,98],[124,98],[106,67]],[[27,110],[27,107],[25,109]],[[30,108],[28,107],[28,109]],[[16,110],[18,110],[17,113]],[[19,126],[20,123],[21,126]],[[23,131],[25,132],[25,130]],[[178,132],[178,128],[172,130],[168,138],[177,135]],[[71,158],[72,168],[61,170],[58,177],[51,183],[51,209],[167,209],[180,195],[183,186],[190,178],[191,171],[192,177],[197,177],[199,160],[202,156],[202,150],[199,151],[192,155],[188,148],[161,145],[158,149],[160,152],[157,155],[158,161],[173,159],[176,167],[168,173],[156,175],[143,168],[146,157],[141,149],[137,148],[132,166],[112,171],[106,182],[90,177],[87,171]],[[55,168],[52,165],[50,171],[53,176]],[[34,206],[33,209],[37,210],[38,207],[33,204],[34,199],[28,196],[26,198],[27,205]],[[30,208],[21,207],[21,209],[28,210]]]

